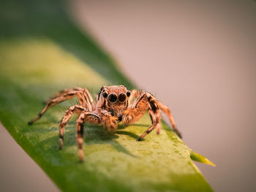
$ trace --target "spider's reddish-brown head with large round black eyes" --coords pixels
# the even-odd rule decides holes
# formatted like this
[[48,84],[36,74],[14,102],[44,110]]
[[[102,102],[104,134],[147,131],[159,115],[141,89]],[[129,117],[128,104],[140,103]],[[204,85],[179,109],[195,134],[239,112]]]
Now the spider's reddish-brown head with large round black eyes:
[[98,99],[104,99],[108,107],[116,108],[126,106],[130,94],[124,85],[104,86],[100,89]]

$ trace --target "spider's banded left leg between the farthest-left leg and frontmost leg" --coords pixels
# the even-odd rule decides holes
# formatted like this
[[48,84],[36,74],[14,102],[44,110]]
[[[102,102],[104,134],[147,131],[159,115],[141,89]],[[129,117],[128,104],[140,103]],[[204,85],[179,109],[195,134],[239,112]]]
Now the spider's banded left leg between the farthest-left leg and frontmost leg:
[[61,120],[61,123],[59,123],[59,149],[60,150],[63,147],[64,127],[67,125],[67,122],[72,117],[74,112],[80,115],[80,113],[83,112],[84,110],[86,109],[79,105],[73,105],[72,107],[69,107],[69,109],[67,109],[67,111],[65,112],[65,115]]

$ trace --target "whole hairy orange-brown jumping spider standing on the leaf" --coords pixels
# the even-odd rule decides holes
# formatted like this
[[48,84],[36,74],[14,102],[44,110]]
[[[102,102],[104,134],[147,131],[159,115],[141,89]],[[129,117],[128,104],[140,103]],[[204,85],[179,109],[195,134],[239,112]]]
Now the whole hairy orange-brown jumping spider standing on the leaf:
[[108,128],[108,131],[115,131],[118,122],[122,122],[124,125],[135,123],[148,111],[152,125],[139,137],[138,140],[141,141],[154,128],[156,128],[157,134],[159,134],[162,110],[167,114],[173,126],[173,131],[178,134],[178,137],[181,137],[181,133],[176,128],[176,124],[168,107],[157,101],[151,93],[137,90],[128,91],[123,85],[103,86],[99,91],[96,101],[92,99],[91,94],[86,88],[64,89],[56,93],[48,101],[48,104],[42,112],[40,112],[36,118],[29,121],[29,125],[41,118],[53,105],[75,96],[78,97],[79,104],[69,107],[59,124],[59,149],[63,147],[64,126],[66,126],[72,114],[75,112],[78,114],[77,140],[80,161],[83,161],[82,144],[84,122],[103,124]]

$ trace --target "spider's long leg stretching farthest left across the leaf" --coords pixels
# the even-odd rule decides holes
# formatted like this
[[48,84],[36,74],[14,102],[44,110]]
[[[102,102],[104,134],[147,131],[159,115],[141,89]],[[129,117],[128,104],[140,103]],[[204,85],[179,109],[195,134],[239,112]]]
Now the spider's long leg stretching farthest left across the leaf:
[[[32,119],[29,121],[29,125],[33,124],[34,122],[36,122],[37,120],[39,120],[39,118],[42,117],[42,115],[45,114],[45,112],[50,108],[53,107],[56,104],[59,104],[62,101],[66,101],[67,99],[72,99],[73,97],[77,96],[79,99],[79,103],[81,106],[86,107],[89,111],[93,110],[94,107],[94,103],[93,103],[93,99],[91,96],[91,94],[89,93],[89,91],[87,91],[87,89],[83,89],[84,91],[73,91],[73,90],[69,90],[67,92],[63,92],[62,94],[59,93],[59,96],[56,97],[55,99],[50,99],[50,101],[48,101],[48,104],[45,106],[45,108],[39,113],[39,115],[37,115],[36,118]],[[58,94],[58,93],[57,93]]]

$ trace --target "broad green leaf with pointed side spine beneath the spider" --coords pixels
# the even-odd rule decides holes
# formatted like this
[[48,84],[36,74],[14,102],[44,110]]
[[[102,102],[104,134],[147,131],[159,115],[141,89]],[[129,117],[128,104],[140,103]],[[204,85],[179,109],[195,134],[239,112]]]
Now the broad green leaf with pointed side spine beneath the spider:
[[[10,14],[12,12],[12,14]],[[161,134],[137,139],[150,126],[119,125],[115,134],[102,126],[85,126],[84,162],[78,161],[74,117],[59,150],[59,121],[75,100],[49,110],[33,126],[42,101],[62,88],[102,85],[134,88],[113,60],[69,20],[61,1],[1,1],[0,120],[62,191],[212,191],[192,159],[192,152],[162,123]]]

